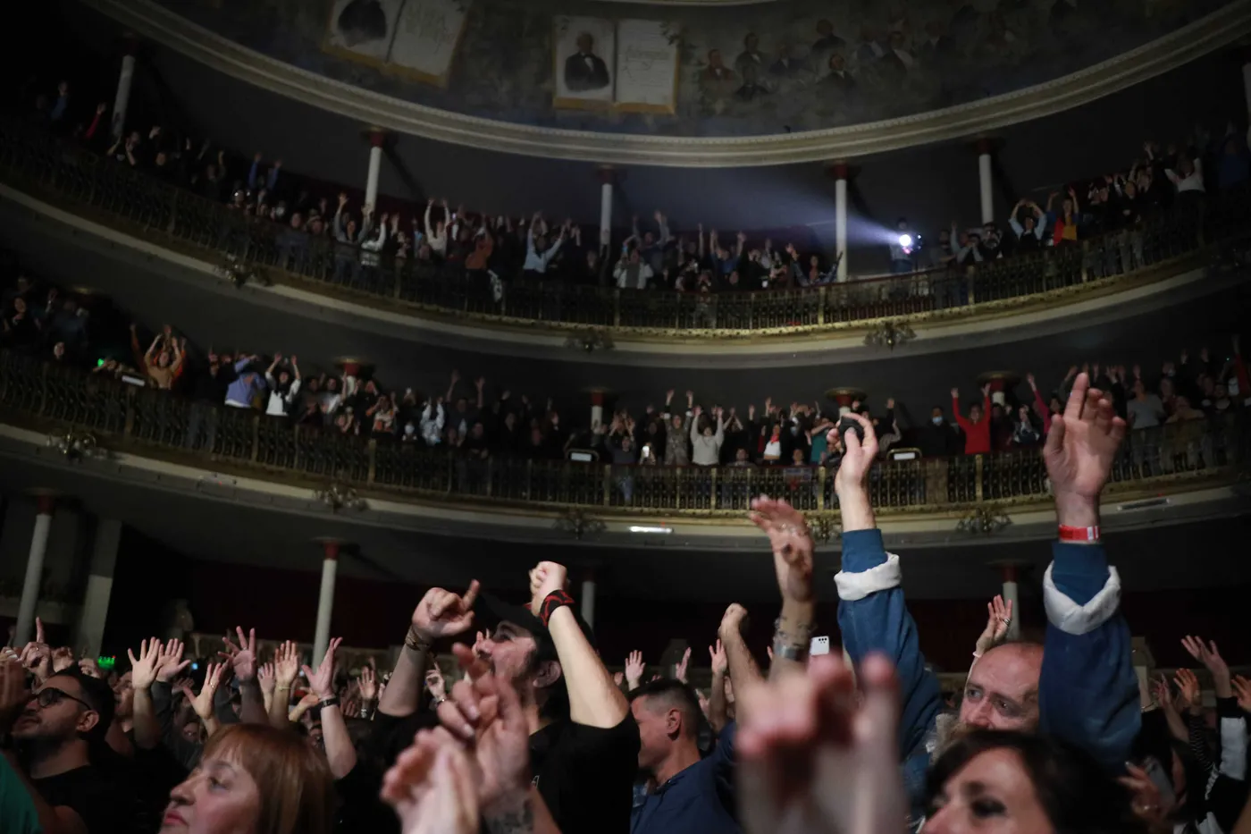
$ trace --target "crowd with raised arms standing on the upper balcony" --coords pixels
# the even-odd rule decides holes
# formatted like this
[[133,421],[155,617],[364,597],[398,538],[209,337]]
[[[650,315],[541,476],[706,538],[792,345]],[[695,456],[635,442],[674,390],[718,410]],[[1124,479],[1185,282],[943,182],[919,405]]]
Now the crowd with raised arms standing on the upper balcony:
[[[55,91],[29,90],[28,114],[119,165],[276,224],[279,265],[301,269],[314,242],[324,240],[339,282],[368,283],[379,277],[383,260],[397,259],[450,264],[469,282],[492,282],[497,293],[500,282],[514,279],[709,293],[826,284],[843,257],[801,253],[794,242],[749,239],[743,232],[706,232],[703,224],[676,230],[659,210],[648,224],[633,217],[629,234],[617,242],[542,212],[493,215],[433,198],[419,207],[387,198],[382,205],[363,204],[338,187],[289,174],[281,158],[240,157],[176,126],[154,124],[114,136],[110,105],[81,101],[74,89],[60,80]],[[891,272],[972,265],[1105,233],[1116,235],[1115,244],[1092,255],[1092,274],[1127,272],[1158,258],[1143,245],[1148,219],[1177,209],[1175,217],[1201,222],[1207,194],[1251,182],[1247,136],[1232,121],[1217,135],[1200,126],[1183,142],[1146,142],[1142,150],[1126,168],[1050,192],[1045,205],[1022,197],[1006,223],[962,227],[953,220],[933,245],[922,245],[928,238],[901,218],[888,252]]]

